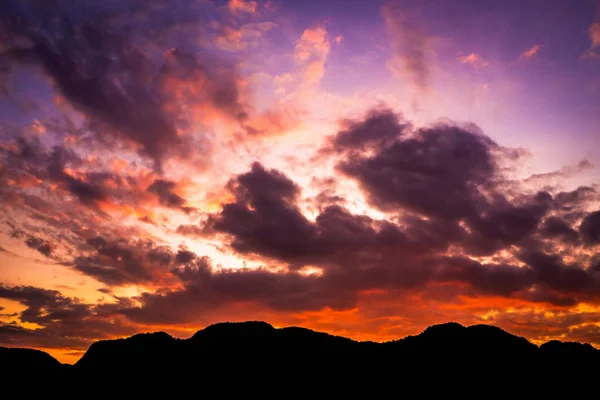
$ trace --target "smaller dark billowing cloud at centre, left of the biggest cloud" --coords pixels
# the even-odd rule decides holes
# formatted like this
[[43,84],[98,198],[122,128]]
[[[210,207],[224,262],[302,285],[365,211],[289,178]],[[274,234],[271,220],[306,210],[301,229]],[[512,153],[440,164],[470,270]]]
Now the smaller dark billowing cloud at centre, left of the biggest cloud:
[[[326,207],[309,221],[296,201],[299,187],[277,170],[253,164],[252,170],[228,184],[236,201],[212,215],[204,231],[227,233],[231,246],[240,253],[254,253],[284,260],[296,267],[325,262],[347,251],[394,245],[409,248],[414,243],[394,224],[353,215],[339,205]],[[421,226],[410,234],[436,236]],[[443,235],[443,233],[441,233]],[[415,246],[418,248],[418,246]]]

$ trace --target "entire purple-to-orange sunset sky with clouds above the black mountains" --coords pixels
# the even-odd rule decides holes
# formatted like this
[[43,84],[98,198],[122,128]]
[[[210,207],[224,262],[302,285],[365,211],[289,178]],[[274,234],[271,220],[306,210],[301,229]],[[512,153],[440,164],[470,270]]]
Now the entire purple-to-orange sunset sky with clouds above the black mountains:
[[600,348],[599,104],[596,0],[5,0],[0,345]]

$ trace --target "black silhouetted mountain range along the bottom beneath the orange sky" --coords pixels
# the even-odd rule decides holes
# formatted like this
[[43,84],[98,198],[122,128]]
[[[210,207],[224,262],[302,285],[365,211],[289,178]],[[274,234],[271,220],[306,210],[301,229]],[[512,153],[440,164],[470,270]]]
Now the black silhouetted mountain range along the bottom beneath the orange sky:
[[150,376],[165,380],[172,374],[194,374],[192,381],[181,378],[178,384],[208,387],[225,380],[229,389],[239,389],[239,378],[260,377],[260,382],[301,382],[304,388],[341,385],[343,380],[344,385],[421,385],[427,390],[439,379],[452,377],[455,383],[463,379],[471,386],[494,382],[493,391],[517,383],[543,384],[547,390],[548,385],[567,381],[590,383],[586,376],[596,380],[600,351],[589,344],[559,341],[538,347],[488,325],[447,323],[416,336],[373,343],[244,322],[212,325],[189,339],[157,332],[99,341],[75,365],[61,364],[41,351],[0,347],[0,369],[72,382],[93,380],[104,388],[119,381],[147,389],[158,383]]

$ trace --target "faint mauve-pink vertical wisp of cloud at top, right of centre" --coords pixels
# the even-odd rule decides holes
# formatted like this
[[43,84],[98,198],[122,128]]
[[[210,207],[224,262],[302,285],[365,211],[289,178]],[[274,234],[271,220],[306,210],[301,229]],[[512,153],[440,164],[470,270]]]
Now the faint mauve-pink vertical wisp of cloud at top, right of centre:
[[388,36],[391,41],[392,58],[388,68],[403,78],[408,74],[417,88],[429,86],[431,37],[414,21],[390,3],[381,7]]

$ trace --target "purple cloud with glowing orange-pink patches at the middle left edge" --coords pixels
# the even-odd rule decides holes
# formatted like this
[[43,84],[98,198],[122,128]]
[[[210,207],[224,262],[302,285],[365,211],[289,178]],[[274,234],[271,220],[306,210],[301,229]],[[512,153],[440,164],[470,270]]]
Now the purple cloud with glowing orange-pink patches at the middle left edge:
[[[174,192],[175,182],[155,179],[145,187],[147,183],[139,175],[114,171],[106,165],[100,169],[90,168],[88,160],[66,145],[42,146],[39,140],[19,137],[12,150],[5,150],[3,155],[6,165],[11,167],[0,172],[0,180],[5,182],[4,191],[7,192],[3,200],[8,200],[9,195],[25,198],[28,182],[34,182],[39,188],[64,191],[68,196],[61,200],[73,198],[101,217],[106,216],[102,211],[102,206],[106,205],[143,209],[159,203],[188,214],[194,211]],[[17,184],[11,186],[9,182]],[[30,195],[27,199],[37,203],[43,201]],[[59,208],[57,204],[48,204],[48,207]]]

